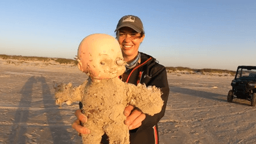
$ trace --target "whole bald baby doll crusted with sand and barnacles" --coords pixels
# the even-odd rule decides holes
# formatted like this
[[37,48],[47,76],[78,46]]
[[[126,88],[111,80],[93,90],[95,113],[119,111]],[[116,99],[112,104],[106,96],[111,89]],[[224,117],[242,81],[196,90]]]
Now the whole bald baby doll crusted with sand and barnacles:
[[109,143],[129,143],[129,129],[124,124],[124,109],[128,104],[143,113],[154,115],[161,111],[161,91],[155,86],[124,83],[118,78],[125,72],[125,61],[117,40],[105,34],[86,36],[77,53],[78,68],[88,74],[80,86],[71,83],[54,86],[56,104],[82,102],[88,122],[84,127],[83,143],[100,143],[106,133]]

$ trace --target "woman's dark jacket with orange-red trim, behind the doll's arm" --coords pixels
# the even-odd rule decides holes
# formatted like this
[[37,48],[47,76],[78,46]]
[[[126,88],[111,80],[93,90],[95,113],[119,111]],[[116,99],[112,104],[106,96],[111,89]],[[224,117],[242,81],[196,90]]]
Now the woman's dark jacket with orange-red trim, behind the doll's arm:
[[130,141],[131,144],[155,144],[159,143],[157,123],[164,116],[170,90],[167,81],[166,68],[157,63],[156,59],[152,56],[142,52],[140,53],[140,65],[130,70],[126,82],[132,84],[145,83],[147,86],[161,88],[161,91],[163,92],[161,97],[164,100],[164,105],[160,113],[157,113],[154,116],[146,115],[142,125],[137,129],[130,131]]

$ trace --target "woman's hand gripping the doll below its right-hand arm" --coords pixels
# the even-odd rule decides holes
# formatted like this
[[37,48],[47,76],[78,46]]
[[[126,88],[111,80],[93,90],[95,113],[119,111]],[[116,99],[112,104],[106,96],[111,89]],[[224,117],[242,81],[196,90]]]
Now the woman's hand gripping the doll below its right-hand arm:
[[132,105],[129,105],[124,109],[124,115],[127,116],[124,123],[130,130],[140,127],[142,121],[146,118],[146,115],[142,113],[140,109],[136,109]]

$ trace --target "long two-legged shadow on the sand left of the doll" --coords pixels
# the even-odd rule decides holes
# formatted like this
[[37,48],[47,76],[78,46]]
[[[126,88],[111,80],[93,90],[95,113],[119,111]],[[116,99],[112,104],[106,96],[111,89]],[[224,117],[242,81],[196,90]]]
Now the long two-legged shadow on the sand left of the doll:
[[[63,127],[64,123],[60,115],[58,108],[53,108],[55,106],[55,101],[52,99],[52,94],[50,88],[45,81],[45,77],[35,77],[32,76],[28,79],[26,84],[21,90],[21,99],[19,102],[19,109],[15,113],[15,118],[12,126],[12,132],[9,137],[10,143],[26,143],[26,134],[28,118],[29,118],[29,108],[31,108],[33,84],[42,84],[42,97],[44,102],[45,113],[54,113],[54,115],[47,115],[47,124],[49,124],[49,129],[51,130],[51,137],[53,143],[72,143],[70,141],[70,134],[67,129]],[[50,109],[50,110],[47,110]],[[62,126],[62,127],[61,127]]]

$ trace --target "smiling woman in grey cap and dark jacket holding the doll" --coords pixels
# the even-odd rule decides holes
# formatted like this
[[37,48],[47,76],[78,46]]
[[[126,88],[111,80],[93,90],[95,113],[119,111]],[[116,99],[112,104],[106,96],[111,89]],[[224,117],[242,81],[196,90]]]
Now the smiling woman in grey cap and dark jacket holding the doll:
[[[127,116],[127,119],[124,123],[130,129],[131,144],[159,143],[157,123],[164,116],[169,95],[166,68],[157,63],[152,56],[138,51],[145,38],[143,24],[139,17],[125,15],[119,20],[115,32],[124,60],[128,63],[125,73],[120,76],[122,81],[132,84],[145,83],[147,86],[161,88],[163,92],[161,97],[164,100],[164,106],[161,112],[154,116],[146,115],[131,105],[125,108],[124,115]],[[81,110],[76,111],[76,116],[78,119],[72,124],[72,127],[79,133],[90,133],[89,129],[80,124],[81,121],[86,122],[87,120]],[[108,143],[106,139],[106,135],[104,135],[102,143]]]

